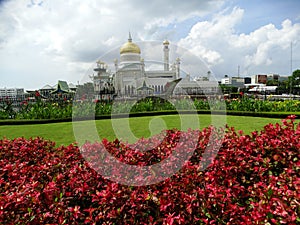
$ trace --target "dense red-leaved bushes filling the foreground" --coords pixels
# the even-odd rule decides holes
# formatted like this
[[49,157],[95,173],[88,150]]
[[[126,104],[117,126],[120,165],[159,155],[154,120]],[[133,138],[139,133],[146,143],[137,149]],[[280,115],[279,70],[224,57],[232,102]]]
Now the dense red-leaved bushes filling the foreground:
[[[1,140],[0,223],[299,224],[300,125],[294,119],[251,135],[227,128],[214,160],[204,155],[211,153],[215,129],[197,131],[197,147],[178,173],[139,187],[112,182],[89,166],[101,159],[99,143],[86,144],[94,157],[87,162],[76,145]],[[154,165],[167,159],[185,135],[166,131],[148,151],[137,149],[159,138],[134,145],[103,140],[102,146],[121,162]],[[149,179],[156,176],[161,174],[152,171]]]

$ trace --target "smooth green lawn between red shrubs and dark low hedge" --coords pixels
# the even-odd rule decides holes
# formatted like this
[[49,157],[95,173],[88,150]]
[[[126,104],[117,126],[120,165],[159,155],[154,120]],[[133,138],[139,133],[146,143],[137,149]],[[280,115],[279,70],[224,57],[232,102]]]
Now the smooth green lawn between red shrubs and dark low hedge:
[[[212,119],[213,118],[213,119]],[[137,117],[126,119],[105,119],[96,121],[81,121],[52,124],[35,125],[9,125],[0,126],[0,138],[6,137],[14,139],[17,137],[43,137],[55,141],[57,145],[69,145],[77,142],[82,143],[86,140],[95,141],[106,138],[110,141],[118,137],[121,140],[135,142],[137,138],[150,137],[160,133],[161,130],[178,128],[187,130],[188,127],[200,129],[209,126],[212,121],[215,125],[224,125],[235,127],[236,130],[243,130],[250,134],[254,130],[261,130],[268,123],[281,122],[281,119],[247,117],[247,116],[226,116],[226,121],[222,116],[185,115],[182,121],[177,115],[156,116],[156,117]],[[198,123],[197,123],[198,120]],[[298,119],[297,122],[300,122]],[[75,132],[73,131],[75,128]],[[131,133],[132,132],[132,133]],[[76,138],[75,138],[76,136]]]

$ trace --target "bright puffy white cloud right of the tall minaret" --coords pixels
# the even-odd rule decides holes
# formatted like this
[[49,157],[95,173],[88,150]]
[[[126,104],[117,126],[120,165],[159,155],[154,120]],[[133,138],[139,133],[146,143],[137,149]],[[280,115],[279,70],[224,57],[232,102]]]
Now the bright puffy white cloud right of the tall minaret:
[[[216,74],[242,75],[255,73],[289,74],[290,43],[300,41],[300,24],[284,20],[280,28],[267,24],[249,34],[238,34],[235,27],[241,23],[244,10],[224,11],[211,21],[195,24],[190,33],[179,41],[206,61]],[[299,45],[297,45],[299,48]],[[294,56],[299,58],[295,51]]]

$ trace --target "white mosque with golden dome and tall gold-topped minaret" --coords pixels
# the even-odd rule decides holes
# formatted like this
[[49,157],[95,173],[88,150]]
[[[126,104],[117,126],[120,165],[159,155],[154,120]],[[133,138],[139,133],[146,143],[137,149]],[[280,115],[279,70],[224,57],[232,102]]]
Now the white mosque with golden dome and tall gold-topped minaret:
[[[169,41],[165,40],[162,45],[163,68],[145,70],[141,49],[132,41],[129,33],[128,41],[120,48],[120,59],[114,60],[114,72],[108,70],[105,62],[100,60],[96,62],[97,67],[94,69],[96,74],[91,76],[95,92],[98,93],[96,98],[102,99],[112,94],[122,97],[161,95],[167,91],[168,87],[175,88],[178,82],[187,91],[195,92],[195,88],[197,89],[195,81],[190,81],[189,76],[184,79],[180,78],[180,59],[176,58],[170,66]],[[174,82],[176,82],[175,85]],[[172,83],[173,85],[170,85]]]

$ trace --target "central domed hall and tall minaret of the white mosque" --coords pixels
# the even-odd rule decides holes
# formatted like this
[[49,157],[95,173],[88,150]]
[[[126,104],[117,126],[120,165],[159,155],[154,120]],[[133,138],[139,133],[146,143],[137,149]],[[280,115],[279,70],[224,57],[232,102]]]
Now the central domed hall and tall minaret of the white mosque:
[[129,34],[128,42],[120,49],[120,62],[115,61],[114,86],[118,96],[135,96],[138,89],[145,82],[147,87],[153,89],[154,94],[164,92],[167,82],[180,77],[180,59],[175,67],[169,68],[169,42],[163,42],[164,68],[163,70],[145,71],[144,60],[141,58],[139,46],[132,42]]

